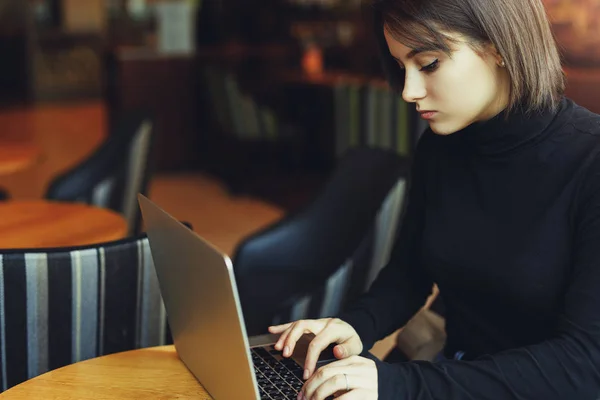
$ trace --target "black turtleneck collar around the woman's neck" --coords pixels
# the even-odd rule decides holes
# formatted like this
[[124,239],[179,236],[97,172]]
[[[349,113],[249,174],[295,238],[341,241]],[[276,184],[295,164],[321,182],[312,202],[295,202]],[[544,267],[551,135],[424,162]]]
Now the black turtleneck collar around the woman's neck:
[[487,121],[473,123],[444,136],[443,140],[456,142],[470,153],[500,155],[543,139],[552,121],[565,112],[567,106],[563,97],[556,111],[526,114],[522,108],[517,108],[507,118],[507,110],[504,110]]

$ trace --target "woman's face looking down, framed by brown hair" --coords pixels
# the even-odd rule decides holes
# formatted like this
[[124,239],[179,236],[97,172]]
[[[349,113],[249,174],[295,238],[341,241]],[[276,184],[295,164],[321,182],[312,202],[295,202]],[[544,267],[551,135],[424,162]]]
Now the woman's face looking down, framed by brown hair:
[[416,103],[433,132],[452,134],[507,107],[509,77],[493,46],[480,54],[461,37],[448,35],[459,39],[449,57],[443,51],[419,52],[394,39],[387,29],[384,33],[390,54],[405,73],[402,97]]

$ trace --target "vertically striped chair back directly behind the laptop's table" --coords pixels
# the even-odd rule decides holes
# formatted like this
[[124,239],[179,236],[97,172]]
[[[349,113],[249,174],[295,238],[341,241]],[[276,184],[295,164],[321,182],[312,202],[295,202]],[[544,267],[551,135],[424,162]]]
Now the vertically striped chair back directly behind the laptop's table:
[[0,250],[0,391],[67,364],[171,342],[145,235]]

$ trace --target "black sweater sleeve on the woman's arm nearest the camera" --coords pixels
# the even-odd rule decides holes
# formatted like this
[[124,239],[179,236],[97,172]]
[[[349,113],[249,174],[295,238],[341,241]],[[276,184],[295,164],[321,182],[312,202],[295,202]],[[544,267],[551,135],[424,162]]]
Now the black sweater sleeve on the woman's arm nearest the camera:
[[380,399],[600,398],[600,163],[574,213],[572,269],[549,340],[473,361],[378,362]]

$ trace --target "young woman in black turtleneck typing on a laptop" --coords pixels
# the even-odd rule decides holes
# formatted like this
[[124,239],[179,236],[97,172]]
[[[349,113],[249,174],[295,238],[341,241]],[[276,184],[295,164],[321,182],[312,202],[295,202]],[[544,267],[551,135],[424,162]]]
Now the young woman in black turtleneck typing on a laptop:
[[[563,97],[541,0],[382,0],[374,11],[391,83],[429,129],[370,291],[339,319],[270,328],[285,356],[316,335],[300,398],[599,398],[600,117]],[[361,357],[434,282],[444,357]],[[330,343],[339,360],[315,373]]]

